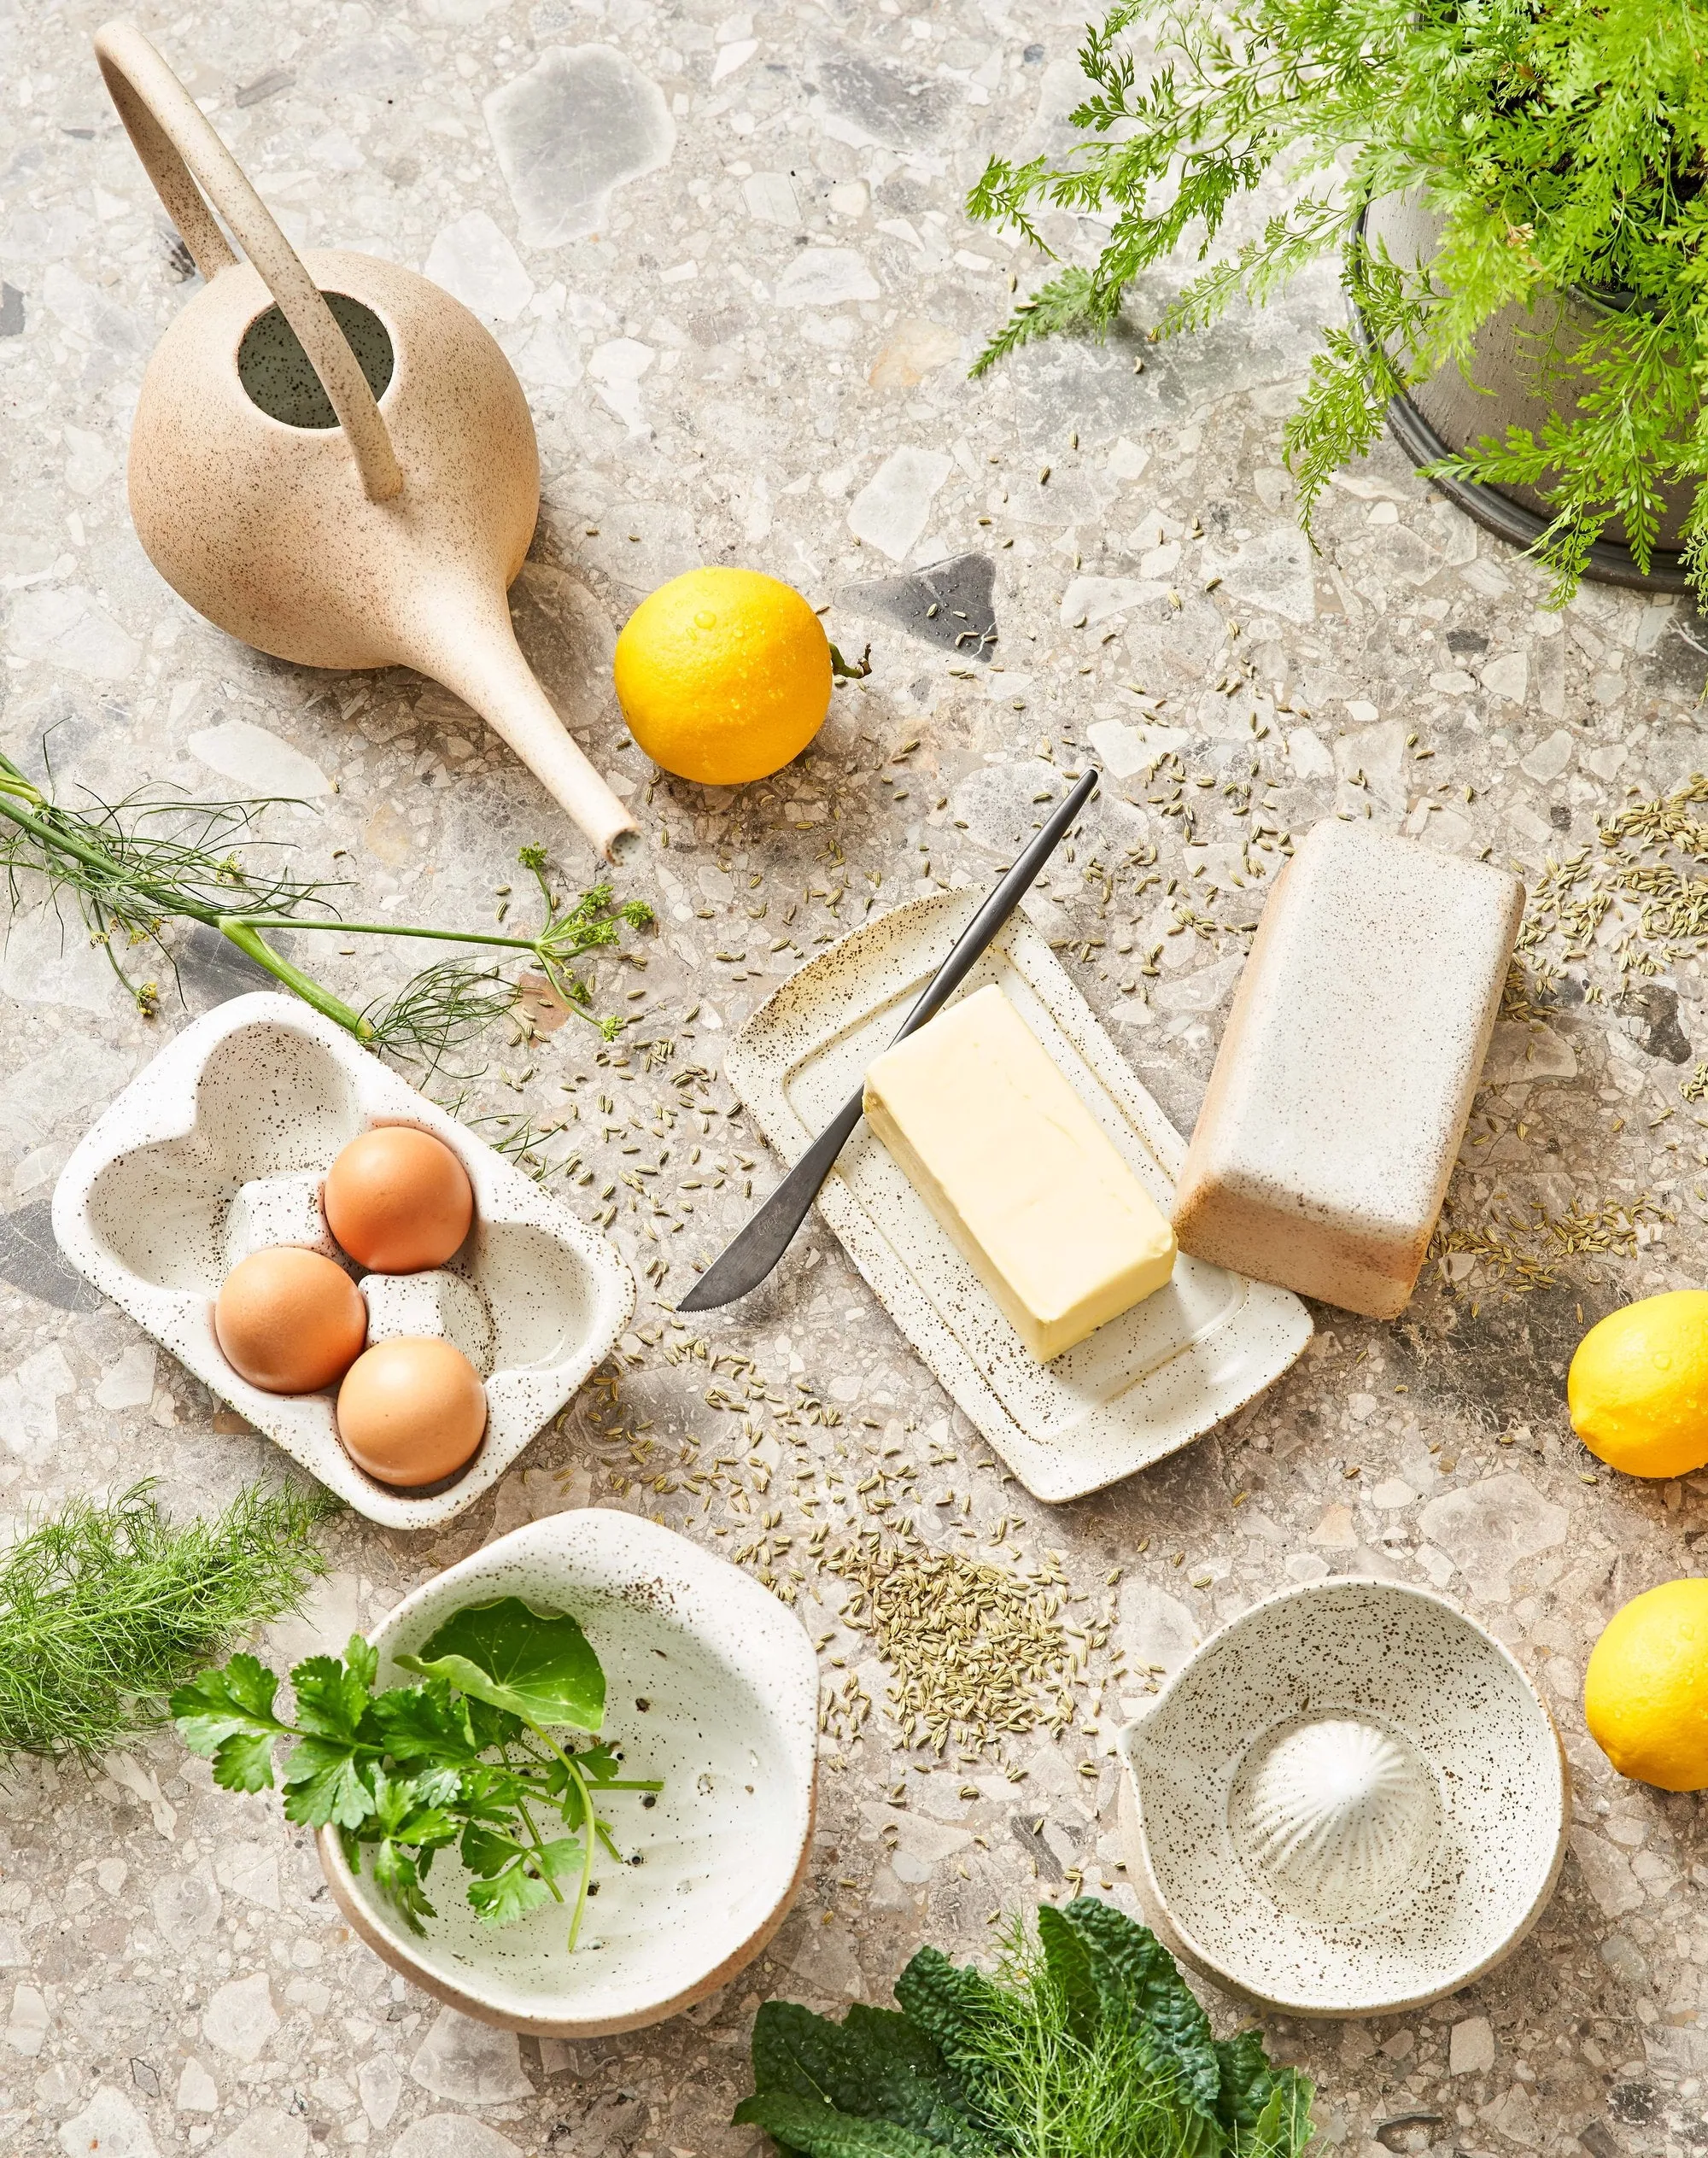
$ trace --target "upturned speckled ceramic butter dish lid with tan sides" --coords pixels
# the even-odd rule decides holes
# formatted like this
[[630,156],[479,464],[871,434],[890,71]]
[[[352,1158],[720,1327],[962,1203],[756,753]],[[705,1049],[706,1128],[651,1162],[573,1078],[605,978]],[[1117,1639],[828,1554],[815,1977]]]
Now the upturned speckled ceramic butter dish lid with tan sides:
[[1464,1137],[1524,887],[1328,822],[1283,872],[1175,1196],[1181,1252],[1406,1310]]

